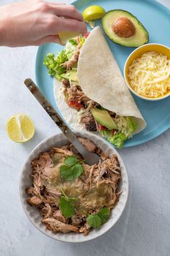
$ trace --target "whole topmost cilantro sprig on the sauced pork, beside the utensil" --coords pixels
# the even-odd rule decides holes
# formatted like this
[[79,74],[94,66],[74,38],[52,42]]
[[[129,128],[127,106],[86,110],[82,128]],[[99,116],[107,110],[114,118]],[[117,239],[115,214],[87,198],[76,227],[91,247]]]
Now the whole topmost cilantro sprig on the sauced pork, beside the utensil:
[[79,161],[76,156],[69,155],[64,159],[64,165],[60,168],[61,178],[66,181],[72,181],[73,179],[77,179],[82,172],[84,171],[81,163],[83,161]]

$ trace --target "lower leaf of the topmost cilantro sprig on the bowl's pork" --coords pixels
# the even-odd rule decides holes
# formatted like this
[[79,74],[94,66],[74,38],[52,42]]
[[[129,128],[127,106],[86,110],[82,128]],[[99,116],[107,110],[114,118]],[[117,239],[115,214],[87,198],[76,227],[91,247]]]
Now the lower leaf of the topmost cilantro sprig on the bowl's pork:
[[83,172],[83,167],[80,163],[76,163],[73,166],[61,166],[60,174],[62,179],[66,179],[67,181],[72,181],[73,179],[77,179]]

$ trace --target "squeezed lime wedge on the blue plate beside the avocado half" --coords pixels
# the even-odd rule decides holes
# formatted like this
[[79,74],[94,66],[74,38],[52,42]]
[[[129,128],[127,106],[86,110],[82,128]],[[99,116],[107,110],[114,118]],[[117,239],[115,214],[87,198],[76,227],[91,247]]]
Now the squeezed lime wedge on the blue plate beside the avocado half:
[[102,19],[102,17],[104,17],[105,11],[103,7],[100,7],[99,5],[91,5],[90,7],[87,7],[82,14],[84,21],[86,22]]

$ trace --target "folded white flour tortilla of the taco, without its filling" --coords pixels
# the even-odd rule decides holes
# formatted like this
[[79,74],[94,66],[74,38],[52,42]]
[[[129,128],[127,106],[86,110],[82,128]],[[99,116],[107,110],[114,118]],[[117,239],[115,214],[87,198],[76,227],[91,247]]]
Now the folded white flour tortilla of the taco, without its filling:
[[[146,121],[122,77],[117,61],[99,27],[91,31],[81,48],[78,61],[81,90],[91,100],[120,116],[133,116],[138,122],[134,134],[146,127]],[[63,85],[54,79],[54,95],[63,118],[73,129],[86,130],[78,119],[76,109],[70,108],[61,95]]]

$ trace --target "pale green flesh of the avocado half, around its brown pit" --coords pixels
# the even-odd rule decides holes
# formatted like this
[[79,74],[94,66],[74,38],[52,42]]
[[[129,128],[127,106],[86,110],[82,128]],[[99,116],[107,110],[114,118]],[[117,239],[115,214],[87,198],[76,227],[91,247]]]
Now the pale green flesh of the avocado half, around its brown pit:
[[[133,28],[135,28],[135,33],[133,35],[125,38],[117,35],[114,32],[113,24],[119,18],[124,18],[124,20],[128,19],[130,24],[132,23],[134,26]],[[145,27],[143,27],[142,23],[135,16],[133,16],[133,14],[122,9],[115,9],[107,12],[102,18],[102,27],[104,33],[106,33],[109,39],[114,43],[120,44],[121,46],[138,47],[148,43],[149,40],[148,31]]]

